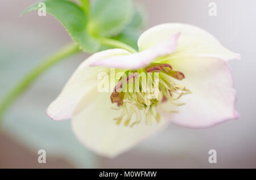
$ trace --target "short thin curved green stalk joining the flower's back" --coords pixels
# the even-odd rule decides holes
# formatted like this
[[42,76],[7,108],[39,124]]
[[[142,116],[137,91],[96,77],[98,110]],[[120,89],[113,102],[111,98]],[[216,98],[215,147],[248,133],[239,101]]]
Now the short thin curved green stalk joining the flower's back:
[[131,48],[131,46],[124,44],[123,42],[113,40],[111,38],[100,38],[100,42],[102,45],[112,46],[114,48],[121,48],[129,51],[130,53],[138,53],[137,50]]

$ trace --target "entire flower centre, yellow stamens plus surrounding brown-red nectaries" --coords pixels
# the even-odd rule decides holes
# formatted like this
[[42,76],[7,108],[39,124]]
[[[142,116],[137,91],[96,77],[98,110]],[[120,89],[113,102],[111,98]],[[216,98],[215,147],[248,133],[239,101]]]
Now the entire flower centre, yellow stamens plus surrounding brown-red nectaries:
[[191,93],[174,82],[184,78],[182,72],[174,71],[171,65],[163,63],[151,63],[137,71],[126,71],[110,96],[112,103],[117,103],[117,107],[112,109],[121,110],[121,115],[114,118],[117,125],[124,121],[125,126],[133,127],[141,122],[143,115],[147,125],[160,122],[160,104],[170,101],[174,105],[184,105],[175,101]]

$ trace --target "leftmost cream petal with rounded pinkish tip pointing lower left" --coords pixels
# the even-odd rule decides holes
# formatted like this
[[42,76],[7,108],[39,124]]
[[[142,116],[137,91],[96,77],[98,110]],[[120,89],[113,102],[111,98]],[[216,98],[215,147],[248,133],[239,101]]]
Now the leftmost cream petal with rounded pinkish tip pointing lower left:
[[48,116],[55,120],[68,119],[71,118],[81,98],[88,100],[88,102],[93,101],[91,95],[100,81],[97,78],[98,74],[100,72],[108,73],[109,68],[89,67],[89,64],[100,61],[102,58],[123,54],[129,54],[129,52],[123,49],[110,49],[98,52],[82,62],[65,84],[60,95],[49,105]]

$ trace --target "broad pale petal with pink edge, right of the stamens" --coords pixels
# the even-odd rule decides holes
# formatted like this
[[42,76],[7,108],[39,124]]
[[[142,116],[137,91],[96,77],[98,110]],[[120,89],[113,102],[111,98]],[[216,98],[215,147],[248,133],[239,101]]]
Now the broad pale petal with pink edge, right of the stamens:
[[185,85],[192,91],[191,95],[182,96],[179,100],[185,102],[185,105],[175,106],[164,102],[165,110],[179,111],[175,114],[164,113],[172,123],[203,128],[238,118],[233,77],[225,61],[194,57],[172,59],[170,63],[185,75],[183,80],[176,80],[176,83]]

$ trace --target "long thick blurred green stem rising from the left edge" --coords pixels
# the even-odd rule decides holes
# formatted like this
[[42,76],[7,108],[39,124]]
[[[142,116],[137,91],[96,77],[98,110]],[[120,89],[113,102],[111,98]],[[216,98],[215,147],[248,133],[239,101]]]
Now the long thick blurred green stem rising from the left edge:
[[9,94],[3,99],[0,104],[0,120],[3,113],[6,112],[7,108],[13,103],[13,101],[24,92],[30,85],[46,71],[49,67],[55,65],[57,62],[60,62],[64,58],[69,57],[77,52],[79,52],[79,46],[75,43],[64,46],[64,48],[57,51],[55,54],[52,54],[51,57],[46,58],[45,61],[40,63],[34,70],[27,74],[20,82],[17,84],[14,89],[9,92]]

